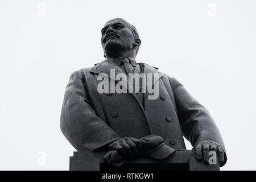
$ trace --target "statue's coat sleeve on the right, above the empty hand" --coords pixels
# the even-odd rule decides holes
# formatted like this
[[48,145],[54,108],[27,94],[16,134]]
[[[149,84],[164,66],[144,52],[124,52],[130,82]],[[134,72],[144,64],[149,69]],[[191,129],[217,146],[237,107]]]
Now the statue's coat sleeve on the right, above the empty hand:
[[224,150],[224,162],[220,166],[224,166],[227,160],[224,142],[209,111],[195,100],[176,78],[169,77],[169,80],[184,137],[191,142],[192,146],[205,140],[220,144]]

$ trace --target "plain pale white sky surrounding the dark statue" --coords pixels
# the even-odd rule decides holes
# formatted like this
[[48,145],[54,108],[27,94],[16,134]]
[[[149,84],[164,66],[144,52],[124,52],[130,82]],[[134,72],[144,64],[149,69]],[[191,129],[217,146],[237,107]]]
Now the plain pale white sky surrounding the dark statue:
[[176,77],[209,109],[228,154],[222,170],[255,170],[256,1],[242,0],[2,0],[0,169],[69,169],[65,86],[104,60],[101,28],[116,17],[139,32],[138,62]]

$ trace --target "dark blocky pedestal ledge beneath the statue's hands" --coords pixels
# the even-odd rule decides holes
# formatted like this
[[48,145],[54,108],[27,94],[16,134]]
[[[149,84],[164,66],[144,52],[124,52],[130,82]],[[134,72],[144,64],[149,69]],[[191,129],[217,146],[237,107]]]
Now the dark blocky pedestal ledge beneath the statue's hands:
[[[74,152],[70,157],[69,170],[71,171],[219,171],[220,165],[199,162],[194,151],[176,151],[163,160],[156,160],[143,156],[129,160],[121,167],[104,163],[105,152]],[[218,159],[217,159],[218,161]]]

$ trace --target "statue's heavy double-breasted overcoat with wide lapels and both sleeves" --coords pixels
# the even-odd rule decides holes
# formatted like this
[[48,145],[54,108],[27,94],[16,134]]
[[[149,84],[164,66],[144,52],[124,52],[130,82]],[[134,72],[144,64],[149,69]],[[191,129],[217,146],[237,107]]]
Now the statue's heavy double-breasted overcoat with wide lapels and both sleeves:
[[217,142],[225,153],[221,134],[209,111],[176,78],[150,65],[138,64],[143,73],[159,74],[159,97],[150,100],[144,94],[144,106],[135,93],[98,92],[100,73],[106,73],[109,80],[110,69],[115,74],[123,73],[108,59],[72,73],[65,89],[60,126],[73,147],[77,151],[95,151],[123,137],[159,135],[175,149],[185,149],[184,136],[192,146],[204,140]]

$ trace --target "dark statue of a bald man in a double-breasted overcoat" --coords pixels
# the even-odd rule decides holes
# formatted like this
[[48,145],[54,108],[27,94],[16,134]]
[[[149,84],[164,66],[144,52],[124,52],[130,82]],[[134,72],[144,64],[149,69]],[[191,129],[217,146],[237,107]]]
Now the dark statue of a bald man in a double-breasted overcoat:
[[[106,22],[101,32],[106,60],[73,72],[65,90],[60,125],[73,147],[77,151],[115,151],[118,158],[130,160],[146,155],[145,146],[164,143],[168,155],[171,148],[185,149],[184,136],[198,160],[207,162],[209,151],[216,151],[223,166],[227,160],[224,142],[209,111],[176,78],[135,60],[141,46],[135,27],[115,18]],[[148,93],[142,92],[99,93],[101,80],[97,77],[104,73],[110,79],[111,70],[126,75],[158,74],[153,85],[158,82],[159,97],[150,100]],[[111,163],[112,154],[108,153],[106,161]],[[166,152],[157,155],[161,158],[162,154]]]

